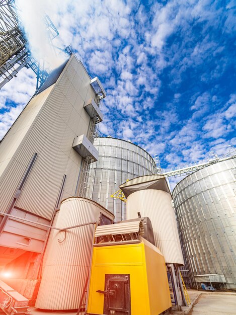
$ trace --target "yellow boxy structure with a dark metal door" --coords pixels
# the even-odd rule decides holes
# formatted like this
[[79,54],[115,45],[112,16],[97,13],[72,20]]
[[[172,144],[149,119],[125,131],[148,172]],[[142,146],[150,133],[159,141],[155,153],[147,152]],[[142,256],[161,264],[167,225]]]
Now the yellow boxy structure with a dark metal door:
[[141,224],[97,227],[87,314],[158,315],[172,306],[164,256]]

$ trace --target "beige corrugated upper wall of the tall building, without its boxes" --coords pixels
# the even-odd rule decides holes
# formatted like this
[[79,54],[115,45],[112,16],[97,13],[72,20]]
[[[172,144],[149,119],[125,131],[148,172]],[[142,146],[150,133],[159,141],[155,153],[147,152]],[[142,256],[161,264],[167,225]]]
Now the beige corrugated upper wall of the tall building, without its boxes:
[[0,144],[1,211],[35,152],[37,160],[16,206],[50,220],[64,174],[62,198],[75,194],[82,157],[72,143],[89,132],[91,118],[83,108],[88,98],[95,98],[90,77],[72,56],[56,84],[32,98]]

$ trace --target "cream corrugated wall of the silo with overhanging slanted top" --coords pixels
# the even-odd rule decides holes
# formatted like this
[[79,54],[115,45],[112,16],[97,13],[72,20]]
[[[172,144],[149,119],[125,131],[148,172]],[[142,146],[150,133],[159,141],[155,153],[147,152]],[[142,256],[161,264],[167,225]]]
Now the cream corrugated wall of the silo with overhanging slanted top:
[[148,216],[154,232],[155,245],[166,263],[184,264],[172,197],[162,190],[145,189],[127,198],[127,219]]

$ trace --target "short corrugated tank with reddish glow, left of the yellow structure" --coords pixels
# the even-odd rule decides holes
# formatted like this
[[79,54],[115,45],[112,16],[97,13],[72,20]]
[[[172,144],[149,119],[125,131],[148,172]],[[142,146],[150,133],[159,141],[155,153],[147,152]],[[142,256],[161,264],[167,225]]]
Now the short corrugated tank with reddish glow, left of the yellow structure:
[[[113,214],[96,202],[71,197],[61,203],[55,227],[99,224],[113,219]],[[79,307],[90,271],[94,231],[93,224],[66,231],[51,230],[36,307],[53,310]]]

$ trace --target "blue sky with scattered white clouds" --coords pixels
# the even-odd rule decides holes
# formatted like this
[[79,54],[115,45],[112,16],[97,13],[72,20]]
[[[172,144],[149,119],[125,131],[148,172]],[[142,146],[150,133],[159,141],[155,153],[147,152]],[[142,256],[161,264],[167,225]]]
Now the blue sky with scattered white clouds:
[[[38,12],[36,3],[30,10]],[[236,145],[234,1],[42,0],[40,6],[60,33],[56,45],[71,44],[103,83],[102,135],[159,154],[163,168]],[[34,75],[23,69],[0,91],[0,136],[34,89]]]

